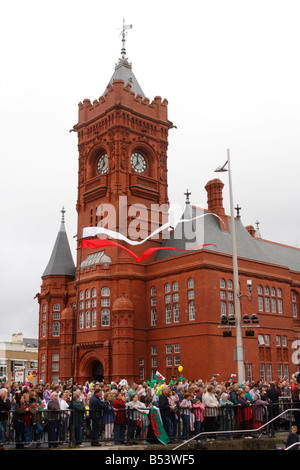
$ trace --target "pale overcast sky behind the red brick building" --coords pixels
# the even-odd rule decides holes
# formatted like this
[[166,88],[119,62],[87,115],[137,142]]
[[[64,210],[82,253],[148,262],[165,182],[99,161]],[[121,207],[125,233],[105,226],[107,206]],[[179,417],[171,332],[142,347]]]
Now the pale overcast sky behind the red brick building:
[[[0,27],[0,340],[37,337],[41,275],[66,209],[75,259],[78,103],[126,49],[145,95],[169,102],[171,203],[207,207],[230,149],[242,222],[300,247],[298,0],[15,0]],[[229,213],[227,174],[224,205]]]

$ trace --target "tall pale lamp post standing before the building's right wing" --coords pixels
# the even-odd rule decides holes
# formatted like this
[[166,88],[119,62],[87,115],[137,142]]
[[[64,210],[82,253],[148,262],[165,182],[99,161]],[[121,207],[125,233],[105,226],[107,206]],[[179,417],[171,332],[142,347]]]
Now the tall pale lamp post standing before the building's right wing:
[[[226,165],[228,165],[228,169],[225,168]],[[245,382],[245,364],[244,364],[244,348],[243,348],[242,324],[241,324],[241,303],[240,303],[240,293],[239,293],[239,274],[238,274],[238,264],[237,264],[237,249],[236,249],[236,235],[235,235],[229,149],[227,149],[226,163],[222,167],[217,168],[215,171],[216,172],[228,171],[229,195],[230,195],[230,217],[231,217],[231,239],[232,239],[232,261],[233,261],[234,310],[235,310],[235,324],[236,324],[236,359],[237,359],[237,367],[238,367],[238,380],[239,380],[239,383],[242,384],[243,382]]]

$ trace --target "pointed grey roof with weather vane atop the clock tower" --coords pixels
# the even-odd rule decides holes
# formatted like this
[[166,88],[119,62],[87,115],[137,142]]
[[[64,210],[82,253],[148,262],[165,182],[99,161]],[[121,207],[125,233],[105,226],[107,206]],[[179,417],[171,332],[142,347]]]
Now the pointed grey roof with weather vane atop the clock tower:
[[[121,58],[119,59],[118,63],[115,66],[115,71],[109,80],[109,83],[112,85],[114,80],[123,80],[124,86],[129,83],[131,85],[131,91],[135,95],[141,95],[143,99],[145,98],[145,94],[140,87],[135,75],[132,71],[132,65],[128,62],[126,57],[126,49],[125,49],[125,35],[126,29],[132,28],[132,25],[125,25],[125,21],[123,20],[123,28],[122,28],[122,49],[121,49]],[[107,92],[107,88],[105,89],[103,96]]]

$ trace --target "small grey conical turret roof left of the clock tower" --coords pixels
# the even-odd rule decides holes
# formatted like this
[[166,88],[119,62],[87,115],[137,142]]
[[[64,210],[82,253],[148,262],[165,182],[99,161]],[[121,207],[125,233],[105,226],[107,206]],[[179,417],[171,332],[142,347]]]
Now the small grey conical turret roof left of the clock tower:
[[49,260],[49,263],[42,275],[45,276],[72,276],[75,277],[76,268],[73,261],[70,245],[65,230],[65,210],[61,210],[62,220],[59,232],[56,237],[55,245]]

